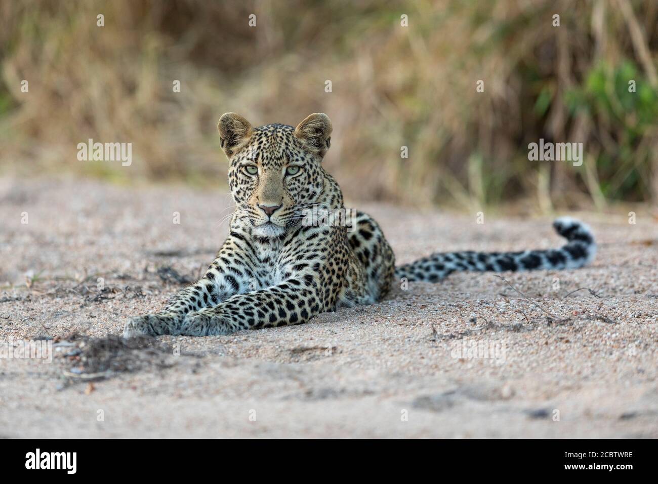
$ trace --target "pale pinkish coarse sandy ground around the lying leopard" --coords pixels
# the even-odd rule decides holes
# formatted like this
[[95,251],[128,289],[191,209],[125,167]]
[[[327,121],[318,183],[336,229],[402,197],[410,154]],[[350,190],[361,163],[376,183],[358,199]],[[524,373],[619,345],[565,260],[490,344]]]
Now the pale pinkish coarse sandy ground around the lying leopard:
[[[549,219],[362,208],[400,263],[561,244]],[[0,437],[658,437],[655,220],[582,217],[594,264],[502,274],[527,298],[462,273],[307,325],[93,339],[160,308],[167,274],[196,277],[229,210],[186,188],[0,178]],[[7,358],[36,338],[50,363]]]

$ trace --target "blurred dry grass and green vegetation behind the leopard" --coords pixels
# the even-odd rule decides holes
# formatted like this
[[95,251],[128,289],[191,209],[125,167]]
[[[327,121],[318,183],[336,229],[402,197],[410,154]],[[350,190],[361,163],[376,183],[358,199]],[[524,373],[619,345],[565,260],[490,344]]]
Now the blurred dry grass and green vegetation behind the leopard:
[[[655,0],[4,0],[0,161],[217,185],[222,113],[295,125],[322,111],[351,200],[655,203],[657,18]],[[132,142],[132,166],[78,161],[88,138]],[[583,142],[583,165],[528,161],[540,138]]]

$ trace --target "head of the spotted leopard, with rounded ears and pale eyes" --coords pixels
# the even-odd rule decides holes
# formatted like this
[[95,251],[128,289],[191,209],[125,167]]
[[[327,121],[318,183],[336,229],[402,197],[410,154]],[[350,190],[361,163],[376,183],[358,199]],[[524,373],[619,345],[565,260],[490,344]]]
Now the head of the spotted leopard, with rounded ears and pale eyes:
[[329,117],[312,114],[297,128],[253,128],[240,115],[225,113],[217,128],[230,162],[228,184],[238,218],[257,236],[282,236],[322,194],[326,173],[320,163],[330,146]]

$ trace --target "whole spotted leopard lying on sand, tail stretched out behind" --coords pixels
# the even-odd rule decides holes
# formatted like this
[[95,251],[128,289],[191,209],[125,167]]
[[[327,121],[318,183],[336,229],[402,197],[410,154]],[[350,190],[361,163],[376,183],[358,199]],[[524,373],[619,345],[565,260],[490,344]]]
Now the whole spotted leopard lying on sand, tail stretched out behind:
[[130,317],[126,338],[299,325],[320,313],[376,304],[400,281],[440,282],[455,271],[574,269],[594,258],[592,230],[562,217],[553,223],[567,240],[560,248],[437,252],[396,266],[380,225],[345,208],[339,184],[322,165],[333,130],[326,114],[313,113],[296,127],[253,127],[224,113],[217,129],[235,205],[228,237],[201,279],[164,309]]

